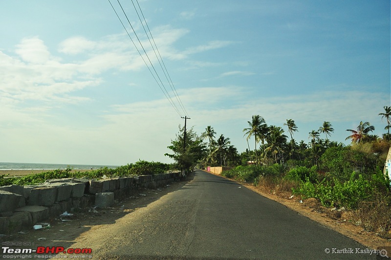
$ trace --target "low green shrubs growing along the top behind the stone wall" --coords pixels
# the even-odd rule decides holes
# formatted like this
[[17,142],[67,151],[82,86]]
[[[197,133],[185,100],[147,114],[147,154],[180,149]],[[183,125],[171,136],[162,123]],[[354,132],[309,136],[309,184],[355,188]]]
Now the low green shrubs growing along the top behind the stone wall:
[[103,175],[107,177],[123,177],[129,175],[148,175],[148,174],[160,174],[165,173],[170,169],[169,164],[160,163],[160,162],[147,162],[147,161],[138,161],[134,164],[127,164],[125,166],[120,166],[115,169],[109,169],[107,167],[92,170],[88,172],[74,172],[69,167],[65,170],[53,170],[43,173],[34,173],[29,174],[23,177],[7,177],[6,175],[0,175],[0,186],[5,185],[32,185],[40,184],[45,182],[48,179],[60,179],[60,178],[101,178]]

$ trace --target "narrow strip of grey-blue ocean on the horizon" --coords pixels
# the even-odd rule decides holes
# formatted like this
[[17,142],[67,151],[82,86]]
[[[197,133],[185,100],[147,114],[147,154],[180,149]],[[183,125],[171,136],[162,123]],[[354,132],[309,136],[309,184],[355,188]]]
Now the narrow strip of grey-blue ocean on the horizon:
[[1,170],[64,170],[67,167],[75,170],[86,170],[86,169],[99,169],[99,168],[110,168],[115,169],[118,166],[113,165],[89,165],[89,164],[48,164],[48,163],[5,163],[0,162]]

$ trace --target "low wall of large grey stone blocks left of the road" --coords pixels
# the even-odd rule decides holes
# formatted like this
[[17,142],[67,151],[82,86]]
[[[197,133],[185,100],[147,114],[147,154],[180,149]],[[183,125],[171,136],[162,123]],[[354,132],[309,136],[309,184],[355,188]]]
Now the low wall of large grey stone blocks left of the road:
[[163,173],[99,180],[53,179],[40,185],[2,186],[0,234],[30,229],[72,208],[109,207],[114,199],[135,194],[140,188],[156,189],[179,178],[180,173]]

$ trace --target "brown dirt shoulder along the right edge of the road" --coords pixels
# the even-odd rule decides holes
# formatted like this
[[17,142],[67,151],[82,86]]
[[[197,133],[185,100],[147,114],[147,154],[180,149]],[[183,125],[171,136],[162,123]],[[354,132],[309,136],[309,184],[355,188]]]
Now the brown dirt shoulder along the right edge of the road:
[[[219,174],[215,175],[221,176]],[[225,178],[224,176],[221,177]],[[341,212],[339,214],[332,214],[330,213],[329,208],[321,206],[320,203],[314,198],[302,200],[295,197],[290,198],[291,194],[275,195],[266,193],[262,191],[260,187],[256,187],[252,184],[240,181],[235,182],[240,183],[246,188],[264,197],[277,201],[278,203],[296,211],[298,214],[317,221],[318,223],[331,228],[332,230],[347,236],[348,238],[352,238],[353,240],[367,246],[370,249],[377,249],[380,246],[391,246],[391,239],[381,238],[373,232],[366,232],[362,227],[354,225],[354,221],[350,219],[350,213],[348,211]],[[302,203],[300,201],[302,201]]]

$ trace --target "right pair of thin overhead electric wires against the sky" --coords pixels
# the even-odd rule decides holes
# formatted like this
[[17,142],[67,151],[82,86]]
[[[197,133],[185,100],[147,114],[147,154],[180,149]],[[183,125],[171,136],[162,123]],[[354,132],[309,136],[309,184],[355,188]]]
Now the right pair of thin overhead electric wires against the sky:
[[[147,30],[145,29],[145,26],[144,26],[144,24],[143,24],[143,21],[141,21],[140,15],[138,14],[137,8],[136,8],[136,6],[134,5],[133,0],[131,0],[131,2],[132,2],[132,4],[133,4],[134,10],[135,10],[136,13],[137,13],[138,19],[140,20],[141,25],[143,26],[144,32],[145,32],[145,34],[146,34],[147,37],[148,37],[148,40],[149,40],[149,42],[150,42],[150,44],[151,44],[151,47],[152,47],[152,49],[153,49],[153,51],[154,51],[154,53],[155,53],[156,59],[159,61],[159,65],[160,65],[160,67],[162,68],[163,73],[164,73],[164,75],[166,76],[167,82],[169,83],[169,85],[170,85],[170,87],[171,87],[171,90],[172,90],[173,93],[174,93],[174,96],[175,96],[175,98],[176,98],[176,101],[178,101],[178,104],[179,104],[180,107],[182,108],[182,111],[185,113],[185,115],[189,115],[188,112],[186,111],[186,108],[183,106],[182,101],[180,100],[180,97],[179,97],[179,95],[178,95],[178,92],[176,91],[176,88],[175,88],[175,86],[174,86],[174,83],[173,83],[173,81],[172,81],[172,79],[171,79],[171,77],[170,77],[170,74],[168,73],[167,67],[166,67],[166,65],[164,64],[163,58],[162,58],[162,56],[160,55],[159,49],[157,48],[157,45],[156,45],[156,43],[155,43],[155,40],[153,39],[153,36],[152,36],[151,30],[150,30],[150,27],[148,26],[147,20],[145,19],[145,16],[144,16],[144,14],[143,14],[143,11],[141,10],[141,7],[140,7],[140,4],[138,3],[138,0],[136,0],[138,9],[140,10],[140,13],[141,13],[141,15],[142,15],[142,17],[143,17],[143,19],[144,19],[145,25],[146,25],[147,28],[148,28],[149,34],[151,35],[151,38],[152,38],[152,41],[153,41],[153,44],[154,44],[156,50],[155,50],[155,48],[153,47],[153,44],[152,44],[152,42],[151,42],[150,37],[148,36]],[[156,54],[156,51],[157,51],[157,54],[159,54],[160,59],[159,59],[158,55]],[[160,62],[160,61],[161,61],[161,62]],[[163,64],[163,65],[162,65],[162,64]],[[163,66],[164,66],[164,68],[163,68]],[[166,74],[166,72],[167,72],[167,74]]]

